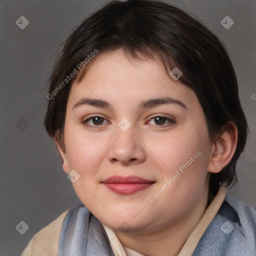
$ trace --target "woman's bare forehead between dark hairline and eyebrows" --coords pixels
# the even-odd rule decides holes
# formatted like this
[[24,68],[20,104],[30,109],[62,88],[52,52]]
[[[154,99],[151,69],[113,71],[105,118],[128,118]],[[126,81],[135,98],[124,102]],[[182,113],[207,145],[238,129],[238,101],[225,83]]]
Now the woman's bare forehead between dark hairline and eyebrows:
[[186,101],[186,105],[197,100],[192,89],[170,77],[159,59],[137,59],[122,50],[99,53],[81,81],[73,82],[68,101],[75,104],[82,96],[119,105],[165,96]]

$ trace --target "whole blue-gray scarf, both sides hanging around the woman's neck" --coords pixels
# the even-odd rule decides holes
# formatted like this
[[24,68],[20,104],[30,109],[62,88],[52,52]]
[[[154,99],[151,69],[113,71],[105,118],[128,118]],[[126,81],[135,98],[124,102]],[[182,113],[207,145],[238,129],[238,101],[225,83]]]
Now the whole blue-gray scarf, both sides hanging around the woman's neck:
[[[114,256],[105,229],[82,202],[64,218],[57,256]],[[255,209],[227,191],[192,256],[256,256]]]

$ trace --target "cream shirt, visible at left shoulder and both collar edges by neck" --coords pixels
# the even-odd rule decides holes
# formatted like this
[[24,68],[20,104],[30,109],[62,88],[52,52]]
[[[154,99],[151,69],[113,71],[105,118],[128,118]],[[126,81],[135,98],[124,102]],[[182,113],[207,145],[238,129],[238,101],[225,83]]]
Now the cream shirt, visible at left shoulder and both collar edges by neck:
[[[217,213],[226,195],[226,189],[219,187],[217,194],[203,213],[200,221],[197,223],[178,256],[191,256],[203,232]],[[22,252],[21,256],[56,256],[58,250],[58,240],[62,223],[68,210],[63,212],[58,218],[37,232]],[[145,256],[126,246],[123,246],[115,232],[103,225],[112,250],[115,256]]]

